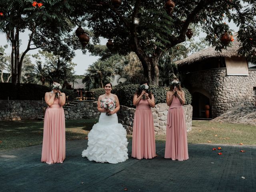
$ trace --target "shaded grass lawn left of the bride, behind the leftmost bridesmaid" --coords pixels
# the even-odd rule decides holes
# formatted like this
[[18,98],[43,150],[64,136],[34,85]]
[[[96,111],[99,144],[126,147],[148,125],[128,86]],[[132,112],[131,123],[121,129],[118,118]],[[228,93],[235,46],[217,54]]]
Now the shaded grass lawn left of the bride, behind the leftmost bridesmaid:
[[[66,120],[66,140],[85,139],[98,119]],[[42,144],[43,121],[0,121],[0,150]]]

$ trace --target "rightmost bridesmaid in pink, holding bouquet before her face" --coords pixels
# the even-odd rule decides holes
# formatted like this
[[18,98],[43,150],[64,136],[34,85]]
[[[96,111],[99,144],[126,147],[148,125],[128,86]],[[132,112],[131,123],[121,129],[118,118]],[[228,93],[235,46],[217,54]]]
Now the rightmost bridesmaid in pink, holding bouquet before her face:
[[[174,86],[175,84],[176,86]],[[188,142],[184,110],[182,108],[182,105],[185,104],[185,94],[177,78],[172,81],[170,91],[166,93],[166,101],[170,108],[167,115],[164,158],[179,161],[187,160]]]

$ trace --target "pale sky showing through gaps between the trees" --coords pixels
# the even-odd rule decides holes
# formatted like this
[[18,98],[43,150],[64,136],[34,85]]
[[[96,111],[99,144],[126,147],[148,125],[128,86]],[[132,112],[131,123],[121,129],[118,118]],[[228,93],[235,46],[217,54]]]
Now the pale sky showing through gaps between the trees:
[[[229,25],[230,29],[234,30],[235,32],[238,31],[238,27],[236,27],[236,25],[233,22],[230,22],[227,24]],[[24,52],[26,50],[27,43],[28,43],[28,34],[29,34],[28,30],[20,34],[20,39],[22,41],[20,52]],[[200,33],[200,37],[204,37],[204,36],[205,34],[203,32]],[[106,44],[106,42],[107,42],[107,39],[101,39],[100,44],[103,45],[103,44]],[[0,46],[4,46],[6,44],[8,44],[6,41],[6,36],[3,33],[1,33]],[[38,49],[30,50],[28,54],[36,54],[37,52],[38,52]],[[11,53],[11,47],[8,44],[8,48],[6,49],[6,54],[10,54],[10,53]],[[81,50],[76,50],[75,53],[76,53],[76,56],[74,57],[72,62],[77,64],[74,68],[74,71],[77,75],[83,75],[86,72],[86,69],[88,68],[88,66],[93,64],[93,62],[95,62],[99,58],[98,56],[90,55],[89,52],[87,52],[87,54],[82,54]],[[31,58],[31,60],[33,63],[35,62],[34,58]]]

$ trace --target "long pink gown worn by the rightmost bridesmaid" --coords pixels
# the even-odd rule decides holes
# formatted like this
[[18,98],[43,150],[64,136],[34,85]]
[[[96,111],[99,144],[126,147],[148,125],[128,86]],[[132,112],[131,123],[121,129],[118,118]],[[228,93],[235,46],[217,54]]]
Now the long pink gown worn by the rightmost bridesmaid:
[[174,96],[167,115],[166,144],[164,158],[188,159],[188,142],[184,110],[178,97]]

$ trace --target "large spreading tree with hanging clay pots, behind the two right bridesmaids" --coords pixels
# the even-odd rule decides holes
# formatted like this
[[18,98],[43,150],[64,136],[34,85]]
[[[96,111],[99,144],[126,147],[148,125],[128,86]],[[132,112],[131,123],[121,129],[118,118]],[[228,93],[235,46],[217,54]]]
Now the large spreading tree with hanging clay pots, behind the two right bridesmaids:
[[[179,0],[169,14],[164,9],[166,0],[122,0],[114,7],[110,0],[88,0],[88,8],[77,16],[86,20],[95,37],[112,39],[112,52],[126,54],[134,51],[149,82],[158,84],[158,62],[172,47],[186,41],[186,32],[198,26],[206,32],[206,41],[216,49],[224,48],[220,37],[229,31],[225,20],[239,26],[240,53],[255,58],[256,2],[254,0]],[[134,18],[140,23],[134,24]],[[85,26],[84,26],[85,27]],[[87,46],[92,50],[92,46]]]

